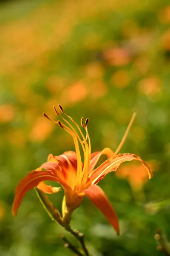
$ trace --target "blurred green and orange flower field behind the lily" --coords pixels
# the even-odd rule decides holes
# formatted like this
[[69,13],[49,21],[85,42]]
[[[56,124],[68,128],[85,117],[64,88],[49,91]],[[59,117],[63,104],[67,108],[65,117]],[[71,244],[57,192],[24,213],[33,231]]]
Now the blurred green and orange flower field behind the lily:
[[[136,111],[121,153],[139,155],[153,178],[133,161],[99,183],[121,236],[86,198],[71,224],[93,256],[161,255],[156,228],[170,239],[169,0],[0,1],[1,256],[73,255],[33,190],[11,214],[20,179],[48,154],[74,150],[42,116],[55,118],[58,103],[77,122],[89,117],[93,151],[115,150]],[[50,196],[58,209],[62,196]]]

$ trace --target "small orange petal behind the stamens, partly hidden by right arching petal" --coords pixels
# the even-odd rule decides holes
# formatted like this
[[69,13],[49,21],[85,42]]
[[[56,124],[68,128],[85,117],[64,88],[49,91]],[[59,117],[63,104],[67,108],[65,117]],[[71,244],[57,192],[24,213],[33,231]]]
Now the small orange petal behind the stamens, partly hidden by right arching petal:
[[116,157],[116,155],[110,148],[104,148],[102,151],[92,153],[90,167],[89,167],[89,174],[91,174],[91,172],[93,171],[94,167],[96,166],[96,163],[98,162],[102,154],[107,155],[108,158]]

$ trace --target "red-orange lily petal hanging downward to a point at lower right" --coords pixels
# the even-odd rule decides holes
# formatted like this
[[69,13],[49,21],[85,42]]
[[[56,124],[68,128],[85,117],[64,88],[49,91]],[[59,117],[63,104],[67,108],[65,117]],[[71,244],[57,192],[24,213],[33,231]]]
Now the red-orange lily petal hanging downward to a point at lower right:
[[96,207],[105,215],[105,217],[116,230],[116,233],[119,235],[120,231],[117,215],[104,191],[99,186],[92,185],[82,192],[84,192],[88,198],[96,205]]

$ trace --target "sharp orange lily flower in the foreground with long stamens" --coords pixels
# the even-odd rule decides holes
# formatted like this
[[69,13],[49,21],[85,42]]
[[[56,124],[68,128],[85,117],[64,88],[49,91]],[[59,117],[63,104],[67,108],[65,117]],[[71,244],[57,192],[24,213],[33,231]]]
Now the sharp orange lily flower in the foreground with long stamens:
[[[77,207],[79,207],[83,198],[88,196],[88,198],[96,205],[96,207],[98,207],[99,210],[105,215],[105,217],[116,230],[117,234],[119,234],[119,222],[116,213],[105,193],[97,185],[97,183],[99,180],[102,180],[109,172],[116,171],[121,163],[131,160],[140,161],[147,169],[149,178],[152,177],[152,172],[149,166],[147,166],[147,164],[144,163],[142,159],[140,159],[135,154],[117,154],[125,141],[130,126],[135,118],[135,114],[133,114],[125,135],[115,153],[110,148],[104,148],[102,151],[94,152],[91,154],[91,141],[87,127],[88,118],[86,119],[85,124],[83,124],[83,118],[81,119],[82,128],[84,128],[86,131],[85,137],[79,128],[79,125],[74,122],[70,116],[65,114],[61,105],[59,105],[59,108],[62,111],[62,114],[64,114],[68,119],[71,120],[71,122],[74,123],[74,125],[77,127],[77,130],[79,131],[79,134],[73,125],[71,125],[71,122],[68,122],[68,120],[65,119],[62,115],[60,117],[62,118],[63,122],[53,122],[57,123],[62,129],[64,129],[73,137],[76,152],[67,151],[59,156],[53,156],[50,154],[46,163],[43,163],[42,166],[33,172],[29,172],[26,177],[20,181],[15,191],[16,195],[13,204],[13,214],[14,216],[17,215],[17,210],[20,207],[21,201],[26,195],[26,192],[28,192],[30,189],[33,189],[35,186],[37,186],[40,191],[48,194],[58,192],[58,188],[47,186],[43,182],[45,180],[55,180],[61,184],[65,192],[66,204],[62,218],[64,227],[69,227],[70,216],[72,212]],[[54,111],[57,115],[59,115],[55,107]],[[50,119],[45,113],[44,116]],[[82,163],[80,148],[83,151],[84,163]],[[95,168],[96,163],[102,154],[105,154],[108,159],[99,167]]]

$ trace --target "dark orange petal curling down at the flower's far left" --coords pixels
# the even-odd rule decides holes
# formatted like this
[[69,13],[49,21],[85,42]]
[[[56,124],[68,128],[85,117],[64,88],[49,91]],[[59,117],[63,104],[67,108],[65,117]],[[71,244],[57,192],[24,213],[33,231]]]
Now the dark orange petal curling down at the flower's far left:
[[17,215],[17,210],[20,207],[20,204],[26,195],[26,193],[37,186],[41,181],[45,180],[55,180],[60,183],[62,186],[67,187],[66,183],[63,183],[56,175],[51,171],[33,171],[29,172],[26,177],[24,177],[18,184],[15,190],[15,198],[12,207],[12,212],[14,216]]

